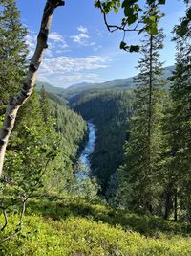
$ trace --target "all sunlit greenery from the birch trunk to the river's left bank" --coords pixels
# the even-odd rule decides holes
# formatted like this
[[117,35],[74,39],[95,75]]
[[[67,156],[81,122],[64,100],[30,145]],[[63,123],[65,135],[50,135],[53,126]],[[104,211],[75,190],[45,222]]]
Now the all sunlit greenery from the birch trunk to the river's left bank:
[[40,94],[34,92],[28,104],[20,109],[11,135],[2,203],[7,203],[3,198],[9,189],[8,180],[14,184],[11,193],[16,198],[17,189],[21,189],[22,197],[31,197],[43,180],[45,192],[67,193],[73,184],[75,158],[86,131],[85,121],[66,105],[60,105],[56,98],[49,99],[44,89]]

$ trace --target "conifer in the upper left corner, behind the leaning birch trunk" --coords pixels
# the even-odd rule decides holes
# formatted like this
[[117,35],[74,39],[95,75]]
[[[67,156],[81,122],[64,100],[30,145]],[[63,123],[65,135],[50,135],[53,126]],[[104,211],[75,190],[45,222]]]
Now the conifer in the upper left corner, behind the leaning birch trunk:
[[25,75],[27,32],[19,18],[15,0],[0,1],[0,114],[21,87]]

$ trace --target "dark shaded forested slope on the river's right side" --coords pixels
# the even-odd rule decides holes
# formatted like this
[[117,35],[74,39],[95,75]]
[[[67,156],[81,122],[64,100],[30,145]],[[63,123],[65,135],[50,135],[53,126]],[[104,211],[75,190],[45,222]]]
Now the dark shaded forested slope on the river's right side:
[[132,112],[131,92],[89,93],[74,104],[74,110],[96,124],[96,149],[91,162],[105,195],[112,176],[123,161],[123,145],[129,136],[128,118]]

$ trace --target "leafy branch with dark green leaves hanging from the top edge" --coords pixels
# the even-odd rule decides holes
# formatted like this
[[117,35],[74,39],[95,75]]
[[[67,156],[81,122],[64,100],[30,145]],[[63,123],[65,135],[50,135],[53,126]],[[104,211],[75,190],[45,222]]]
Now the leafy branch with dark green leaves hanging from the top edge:
[[[160,13],[159,5],[164,5],[165,0],[147,0],[146,10],[138,5],[138,0],[96,0],[95,6],[100,10],[103,15],[103,20],[107,30],[111,33],[116,31],[123,32],[123,38],[120,43],[120,49],[132,52],[139,51],[139,45],[128,45],[125,42],[127,32],[136,32],[140,35],[147,32],[151,35],[158,34],[158,23],[161,17],[164,16]],[[120,9],[123,10],[124,17],[120,25],[110,24],[108,21],[108,14],[111,11],[117,13]]]

